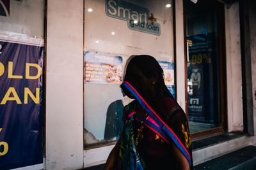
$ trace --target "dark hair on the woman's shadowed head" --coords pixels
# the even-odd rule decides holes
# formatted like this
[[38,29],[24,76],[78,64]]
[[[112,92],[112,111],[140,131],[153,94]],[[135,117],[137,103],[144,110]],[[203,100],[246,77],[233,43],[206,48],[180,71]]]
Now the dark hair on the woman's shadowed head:
[[[147,78],[157,78],[156,90],[160,95],[173,97],[164,83],[163,69],[154,57],[150,55],[132,55],[127,62],[124,76],[130,76],[131,67],[136,66]],[[124,90],[124,87],[121,87]]]

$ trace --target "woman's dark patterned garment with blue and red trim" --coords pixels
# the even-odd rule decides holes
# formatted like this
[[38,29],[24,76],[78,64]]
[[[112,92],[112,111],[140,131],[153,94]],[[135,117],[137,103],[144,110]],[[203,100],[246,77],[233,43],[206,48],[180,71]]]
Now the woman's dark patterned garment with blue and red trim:
[[179,104],[173,98],[163,97],[154,109],[161,113],[159,119],[164,120],[164,124],[172,129],[174,137],[167,134],[163,130],[166,127],[160,127],[154,118],[148,117],[145,120],[134,114],[138,104],[141,105],[138,99],[134,100],[124,110],[125,126],[121,138],[118,169],[175,169],[175,151],[170,147],[170,143],[175,143],[189,164],[193,165],[190,158],[192,150],[188,122]]

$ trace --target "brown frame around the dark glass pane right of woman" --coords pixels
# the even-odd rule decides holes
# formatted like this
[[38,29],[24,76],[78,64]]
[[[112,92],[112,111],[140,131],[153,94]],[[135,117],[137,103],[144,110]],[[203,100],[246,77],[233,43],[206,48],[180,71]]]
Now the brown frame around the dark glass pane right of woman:
[[[185,57],[185,104],[186,104],[186,116],[188,118],[188,46],[187,46],[187,31],[186,31],[186,5],[183,0],[183,19],[184,19],[184,57]],[[192,139],[202,138],[212,134],[217,134],[227,131],[227,71],[226,71],[226,48],[225,48],[225,5],[216,0],[198,0],[207,6],[211,6],[217,12],[218,18],[218,44],[219,44],[219,56],[220,56],[220,127],[209,129],[206,131],[195,132],[191,134]]]

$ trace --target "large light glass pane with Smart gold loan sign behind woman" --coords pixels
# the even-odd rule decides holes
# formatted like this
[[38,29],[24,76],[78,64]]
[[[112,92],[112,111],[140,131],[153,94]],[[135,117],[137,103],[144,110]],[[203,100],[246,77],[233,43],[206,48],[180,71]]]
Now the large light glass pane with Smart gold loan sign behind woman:
[[129,56],[148,54],[159,60],[166,85],[174,92],[173,16],[171,0],[84,2],[84,146],[88,148],[119,138],[123,109],[130,102],[119,87]]

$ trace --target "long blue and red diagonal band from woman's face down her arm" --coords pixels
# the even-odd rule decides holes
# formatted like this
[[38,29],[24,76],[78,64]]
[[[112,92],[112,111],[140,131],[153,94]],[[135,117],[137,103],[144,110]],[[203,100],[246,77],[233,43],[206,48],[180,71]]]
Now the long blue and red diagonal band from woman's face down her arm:
[[[164,123],[164,121],[156,114],[152,108],[146,103],[146,101],[143,99],[143,97],[140,96],[140,94],[132,87],[130,83],[127,81],[124,81],[122,83],[137,99],[137,101],[141,104],[141,106],[147,111],[148,115],[153,118],[153,120],[159,125],[159,127],[172,139],[172,141],[175,143],[175,145],[179,148],[179,150],[183,153],[183,155],[186,157],[186,159],[189,162],[189,165],[191,165],[191,158],[188,153],[188,150],[184,147],[180,139],[177,137],[177,135]],[[165,137],[165,135],[164,135]]]

